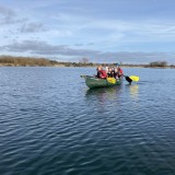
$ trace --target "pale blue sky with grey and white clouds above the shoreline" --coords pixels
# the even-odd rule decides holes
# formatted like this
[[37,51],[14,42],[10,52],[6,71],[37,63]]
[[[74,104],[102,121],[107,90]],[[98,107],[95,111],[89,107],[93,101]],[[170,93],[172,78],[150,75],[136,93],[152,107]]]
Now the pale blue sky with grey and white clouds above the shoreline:
[[0,0],[0,55],[175,63],[175,0]]

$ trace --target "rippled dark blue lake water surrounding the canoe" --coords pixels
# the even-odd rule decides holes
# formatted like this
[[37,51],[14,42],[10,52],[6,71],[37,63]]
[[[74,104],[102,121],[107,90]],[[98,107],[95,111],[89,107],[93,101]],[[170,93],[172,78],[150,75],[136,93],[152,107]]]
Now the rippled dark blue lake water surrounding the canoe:
[[175,69],[89,90],[95,68],[0,68],[0,175],[174,175]]

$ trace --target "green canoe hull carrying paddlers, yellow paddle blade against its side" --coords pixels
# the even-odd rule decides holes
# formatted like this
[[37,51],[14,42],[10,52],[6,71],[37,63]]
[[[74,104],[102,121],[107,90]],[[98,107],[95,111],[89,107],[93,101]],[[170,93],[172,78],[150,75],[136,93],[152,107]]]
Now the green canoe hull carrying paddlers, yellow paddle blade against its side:
[[121,84],[121,79],[114,79],[114,78],[98,79],[98,78],[90,77],[90,75],[81,75],[81,78],[84,78],[85,84],[90,89],[103,88],[103,86],[114,86],[114,85]]

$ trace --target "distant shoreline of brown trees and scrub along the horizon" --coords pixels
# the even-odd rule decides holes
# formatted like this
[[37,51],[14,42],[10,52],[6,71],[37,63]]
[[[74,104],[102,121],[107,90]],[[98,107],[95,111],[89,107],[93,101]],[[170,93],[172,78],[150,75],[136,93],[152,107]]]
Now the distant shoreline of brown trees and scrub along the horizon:
[[[0,56],[0,67],[115,67],[116,63],[94,63],[94,62],[60,62],[46,58],[32,58],[32,57],[13,57]],[[174,69],[175,65],[168,66],[166,61],[154,61],[148,65],[129,65],[121,63],[122,68],[171,68]]]

